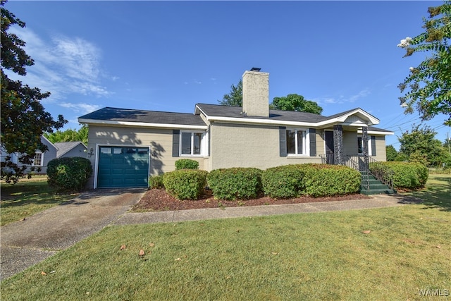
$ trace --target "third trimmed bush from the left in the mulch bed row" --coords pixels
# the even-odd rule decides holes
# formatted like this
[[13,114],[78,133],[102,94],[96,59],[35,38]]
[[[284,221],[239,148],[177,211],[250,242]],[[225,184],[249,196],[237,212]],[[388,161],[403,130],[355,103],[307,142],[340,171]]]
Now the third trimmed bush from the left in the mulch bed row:
[[303,188],[303,177],[304,172],[297,165],[268,168],[261,175],[263,192],[276,199],[298,197]]

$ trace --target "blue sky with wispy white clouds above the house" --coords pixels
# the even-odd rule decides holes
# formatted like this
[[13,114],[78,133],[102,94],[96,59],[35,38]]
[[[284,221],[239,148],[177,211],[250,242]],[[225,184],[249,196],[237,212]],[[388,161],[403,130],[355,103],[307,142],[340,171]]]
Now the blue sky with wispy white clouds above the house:
[[[104,106],[194,112],[217,104],[252,67],[269,75],[269,97],[301,94],[323,115],[360,107],[395,132],[404,115],[397,85],[426,54],[402,58],[401,39],[423,32],[441,1],[8,1],[27,27],[35,65],[20,79],[51,92],[52,116],[77,118]],[[444,141],[444,116],[427,124]]]

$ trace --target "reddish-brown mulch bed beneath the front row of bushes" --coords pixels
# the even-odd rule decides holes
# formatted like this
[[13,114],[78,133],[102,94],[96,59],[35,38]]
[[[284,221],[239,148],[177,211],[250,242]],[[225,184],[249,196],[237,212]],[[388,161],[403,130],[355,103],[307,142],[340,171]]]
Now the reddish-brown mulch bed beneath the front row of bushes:
[[332,202],[352,199],[370,199],[366,195],[354,194],[340,197],[297,197],[293,199],[272,199],[271,197],[257,197],[256,199],[226,201],[214,199],[211,190],[204,190],[204,195],[196,200],[179,200],[169,195],[164,189],[148,190],[144,197],[136,204],[133,211],[168,211],[187,210],[218,207],[240,207],[240,206],[260,206],[276,204],[299,204],[311,202]]

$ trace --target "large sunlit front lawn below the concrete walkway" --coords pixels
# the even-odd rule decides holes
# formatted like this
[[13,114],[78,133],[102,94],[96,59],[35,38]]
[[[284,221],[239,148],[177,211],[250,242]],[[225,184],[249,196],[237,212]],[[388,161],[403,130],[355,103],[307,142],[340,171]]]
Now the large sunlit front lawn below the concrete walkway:
[[2,300],[431,300],[451,292],[450,180],[414,192],[426,204],[107,227]]

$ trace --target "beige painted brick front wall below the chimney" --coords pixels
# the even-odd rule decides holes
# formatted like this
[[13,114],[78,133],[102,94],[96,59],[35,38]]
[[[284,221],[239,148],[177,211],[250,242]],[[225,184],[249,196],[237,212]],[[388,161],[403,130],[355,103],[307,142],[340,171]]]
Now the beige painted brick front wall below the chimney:
[[[316,134],[317,154],[321,149],[319,140],[321,136]],[[280,156],[277,126],[212,123],[210,154],[211,169],[321,163],[319,156]]]

